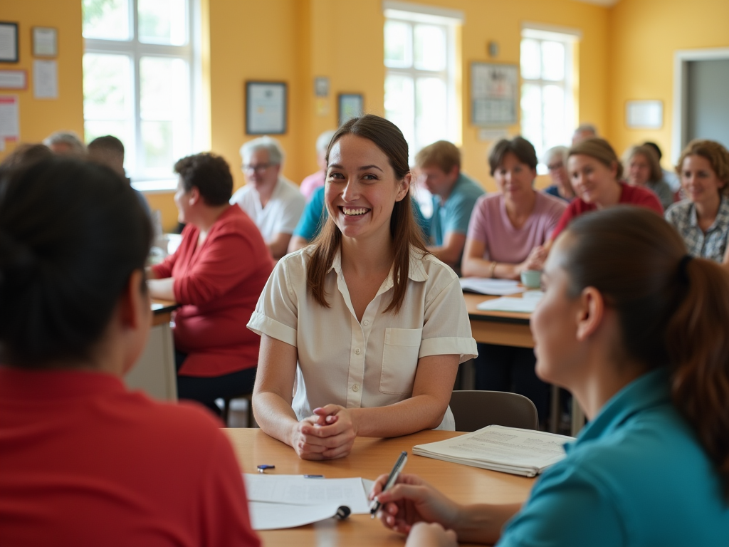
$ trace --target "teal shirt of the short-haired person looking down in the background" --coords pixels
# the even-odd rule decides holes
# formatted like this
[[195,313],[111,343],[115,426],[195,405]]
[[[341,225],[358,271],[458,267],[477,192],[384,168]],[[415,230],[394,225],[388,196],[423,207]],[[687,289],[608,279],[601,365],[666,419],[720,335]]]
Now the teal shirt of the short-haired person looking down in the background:
[[434,195],[433,216],[430,217],[432,242],[440,247],[448,232],[465,235],[468,232],[473,206],[475,206],[476,200],[485,193],[477,182],[461,173],[445,203],[440,202],[440,196]]

